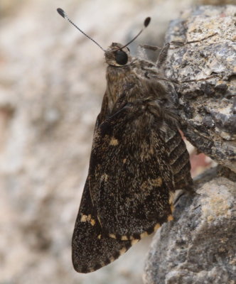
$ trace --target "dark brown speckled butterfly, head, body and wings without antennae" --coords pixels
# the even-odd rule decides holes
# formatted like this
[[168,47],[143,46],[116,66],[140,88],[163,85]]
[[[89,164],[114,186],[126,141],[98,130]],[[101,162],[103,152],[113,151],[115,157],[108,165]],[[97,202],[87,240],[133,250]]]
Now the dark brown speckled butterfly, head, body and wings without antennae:
[[[88,273],[172,219],[172,192],[189,190],[189,155],[159,70],[112,43],[107,90],[73,234],[73,266]],[[119,56],[118,56],[119,55]]]

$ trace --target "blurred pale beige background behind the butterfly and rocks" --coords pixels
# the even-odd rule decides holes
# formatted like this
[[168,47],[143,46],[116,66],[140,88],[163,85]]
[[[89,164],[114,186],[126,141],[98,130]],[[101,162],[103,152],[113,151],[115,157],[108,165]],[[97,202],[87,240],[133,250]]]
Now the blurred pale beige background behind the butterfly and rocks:
[[[70,241],[106,65],[102,50],[56,9],[65,9],[103,48],[127,43],[151,16],[132,45],[135,53],[139,44],[162,45],[168,21],[198,3],[1,0],[0,284],[141,283],[151,238],[100,271],[73,270]],[[192,163],[196,175],[210,160],[200,154]]]

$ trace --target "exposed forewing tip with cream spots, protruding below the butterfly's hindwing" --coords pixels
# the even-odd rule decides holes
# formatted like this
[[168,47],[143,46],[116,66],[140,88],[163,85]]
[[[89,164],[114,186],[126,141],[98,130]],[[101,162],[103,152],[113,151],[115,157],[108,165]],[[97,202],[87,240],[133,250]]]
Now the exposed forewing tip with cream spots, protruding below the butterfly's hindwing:
[[80,273],[96,271],[114,261],[130,246],[132,241],[118,241],[102,234],[86,181],[72,240],[75,271]]

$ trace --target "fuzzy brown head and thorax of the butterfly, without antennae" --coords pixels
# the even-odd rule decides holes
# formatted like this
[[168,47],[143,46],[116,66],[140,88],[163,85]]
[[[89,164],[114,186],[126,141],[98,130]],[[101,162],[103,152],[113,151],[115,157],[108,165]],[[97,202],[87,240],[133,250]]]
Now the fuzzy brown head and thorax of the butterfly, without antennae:
[[165,99],[165,85],[154,79],[159,72],[154,63],[132,57],[129,48],[121,48],[120,43],[112,43],[104,53],[108,64],[106,94],[109,114],[118,100],[124,106],[137,100],[161,102]]

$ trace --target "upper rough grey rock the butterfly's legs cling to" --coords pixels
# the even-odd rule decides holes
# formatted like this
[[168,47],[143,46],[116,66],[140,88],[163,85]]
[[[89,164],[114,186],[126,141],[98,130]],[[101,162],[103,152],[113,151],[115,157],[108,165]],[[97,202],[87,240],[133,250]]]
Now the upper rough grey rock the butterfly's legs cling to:
[[176,85],[183,132],[198,151],[236,172],[236,6],[199,6],[172,21],[167,41],[201,40],[171,50],[166,77]]

